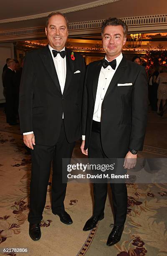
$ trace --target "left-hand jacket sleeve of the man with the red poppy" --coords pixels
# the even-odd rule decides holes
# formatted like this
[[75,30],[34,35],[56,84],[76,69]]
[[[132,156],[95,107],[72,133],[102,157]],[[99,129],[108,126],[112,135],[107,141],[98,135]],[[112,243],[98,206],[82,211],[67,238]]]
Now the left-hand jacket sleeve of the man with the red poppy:
[[20,82],[19,93],[19,118],[21,133],[33,131],[33,82],[35,78],[33,60],[31,54],[25,57],[24,67]]

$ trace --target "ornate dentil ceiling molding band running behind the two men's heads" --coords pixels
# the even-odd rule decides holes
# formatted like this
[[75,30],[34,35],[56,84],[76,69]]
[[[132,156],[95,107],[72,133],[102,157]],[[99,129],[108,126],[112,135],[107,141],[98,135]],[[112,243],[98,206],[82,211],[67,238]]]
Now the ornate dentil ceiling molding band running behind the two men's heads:
[[[121,18],[127,26],[129,33],[146,33],[167,31],[167,14],[147,15],[139,17]],[[89,35],[101,33],[104,20],[90,20],[69,23],[69,36]],[[45,38],[45,27],[20,28],[0,31],[0,42],[16,41],[33,38]]]

